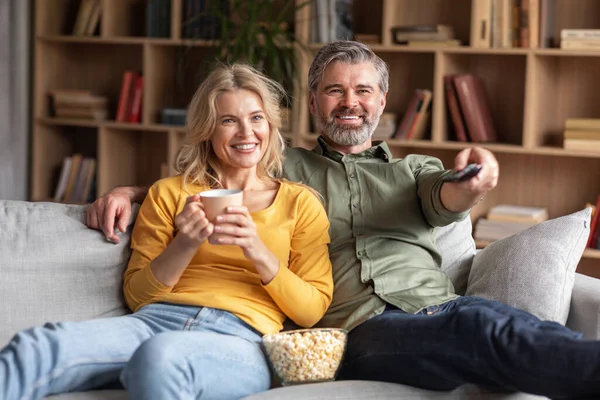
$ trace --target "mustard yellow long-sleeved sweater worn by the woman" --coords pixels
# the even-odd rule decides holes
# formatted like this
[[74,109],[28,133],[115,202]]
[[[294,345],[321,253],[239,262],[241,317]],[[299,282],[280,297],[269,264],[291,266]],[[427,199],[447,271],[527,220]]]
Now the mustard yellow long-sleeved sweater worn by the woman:
[[[187,190],[186,190],[187,189]],[[286,315],[303,327],[317,323],[331,303],[329,221],[319,199],[306,188],[282,182],[273,204],[251,213],[258,235],[279,259],[267,285],[237,246],[203,243],[179,282],[165,286],[150,263],[175,235],[175,216],[186,197],[207,188],[181,176],[156,182],[133,229],[132,254],[124,279],[125,299],[136,311],[156,302],[227,310],[262,333],[281,330]]]

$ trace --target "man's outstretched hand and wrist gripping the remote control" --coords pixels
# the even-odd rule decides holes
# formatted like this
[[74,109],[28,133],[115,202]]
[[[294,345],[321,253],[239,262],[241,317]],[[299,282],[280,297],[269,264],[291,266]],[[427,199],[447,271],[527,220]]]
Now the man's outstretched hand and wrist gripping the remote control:
[[500,168],[491,151],[481,147],[464,149],[454,159],[454,169],[461,170],[471,163],[482,166],[476,176],[463,182],[445,182],[442,186],[442,204],[450,211],[470,209],[498,184]]

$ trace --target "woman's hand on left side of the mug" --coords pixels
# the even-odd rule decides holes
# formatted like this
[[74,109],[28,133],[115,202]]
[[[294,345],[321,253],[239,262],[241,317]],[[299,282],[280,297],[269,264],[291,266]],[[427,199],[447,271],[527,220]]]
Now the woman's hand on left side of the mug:
[[189,196],[183,210],[175,217],[179,238],[184,244],[198,248],[213,233],[214,225],[206,218],[200,195]]

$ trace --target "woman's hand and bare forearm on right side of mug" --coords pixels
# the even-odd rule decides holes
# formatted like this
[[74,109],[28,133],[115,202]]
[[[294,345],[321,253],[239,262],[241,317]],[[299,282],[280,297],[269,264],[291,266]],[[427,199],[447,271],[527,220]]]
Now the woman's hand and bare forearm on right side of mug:
[[269,283],[279,270],[279,260],[260,240],[256,224],[244,206],[227,207],[227,214],[218,215],[215,222],[216,245],[239,246],[252,261],[263,284]]

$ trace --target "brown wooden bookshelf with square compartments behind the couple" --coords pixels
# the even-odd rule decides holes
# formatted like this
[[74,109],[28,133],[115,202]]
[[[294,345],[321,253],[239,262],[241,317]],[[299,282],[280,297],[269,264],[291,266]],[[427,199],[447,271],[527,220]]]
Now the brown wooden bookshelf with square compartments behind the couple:
[[[170,37],[149,38],[140,11],[144,0],[101,0],[102,17],[91,37],[70,35],[66,28],[78,1],[36,0],[32,200],[52,197],[56,168],[74,152],[97,159],[97,193],[115,185],[148,184],[172,173],[169,166],[184,130],[159,124],[158,115],[163,107],[187,103],[202,78],[193,66],[211,54],[210,42],[182,39],[183,1],[170,2]],[[561,29],[600,29],[600,2],[596,0],[552,0],[549,4],[555,8],[552,32],[556,38]],[[473,220],[500,203],[544,206],[551,218],[594,203],[600,193],[600,153],[565,150],[556,143],[567,118],[600,118],[600,80],[595,77],[600,51],[471,47],[472,6],[471,0],[354,0],[354,33],[379,35],[379,43],[371,47],[391,68],[386,111],[402,116],[415,89],[433,92],[428,139],[389,140],[393,153],[429,154],[452,165],[458,151],[472,146],[452,138],[443,77],[473,73],[485,83],[500,137],[498,143],[484,146],[496,154],[501,170],[498,187],[475,207]],[[295,32],[314,52],[321,44],[309,41],[311,23],[310,8],[300,8]],[[451,25],[463,45],[393,44],[393,26],[414,24]],[[177,63],[182,48],[189,57],[185,70]],[[311,55],[298,51],[298,56],[293,133],[286,137],[295,146],[312,148],[316,136],[310,128],[305,90]],[[128,69],[144,76],[139,124],[50,115],[47,92],[54,88],[86,89],[116,102],[123,71]],[[600,276],[600,251],[586,250],[580,270]]]

